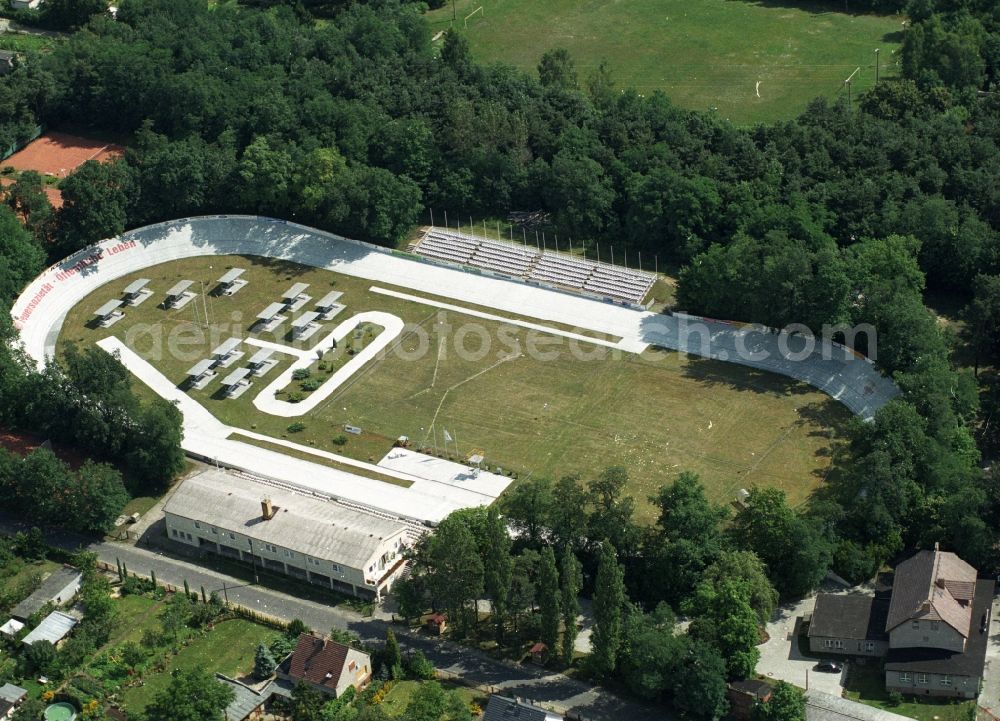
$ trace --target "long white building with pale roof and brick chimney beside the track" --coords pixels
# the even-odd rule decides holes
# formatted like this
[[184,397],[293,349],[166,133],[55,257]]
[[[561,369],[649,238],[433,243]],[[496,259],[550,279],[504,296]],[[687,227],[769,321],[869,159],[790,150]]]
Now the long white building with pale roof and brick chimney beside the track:
[[164,513],[173,541],[362,598],[403,569],[403,522],[222,471],[183,481]]

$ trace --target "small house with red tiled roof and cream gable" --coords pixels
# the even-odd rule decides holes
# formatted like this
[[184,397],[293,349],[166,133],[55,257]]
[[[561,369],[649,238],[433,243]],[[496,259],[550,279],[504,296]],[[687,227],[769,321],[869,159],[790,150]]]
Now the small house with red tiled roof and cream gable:
[[372,678],[372,660],[364,651],[303,633],[295,650],[278,666],[279,679],[305,682],[338,698],[349,687],[360,691]]

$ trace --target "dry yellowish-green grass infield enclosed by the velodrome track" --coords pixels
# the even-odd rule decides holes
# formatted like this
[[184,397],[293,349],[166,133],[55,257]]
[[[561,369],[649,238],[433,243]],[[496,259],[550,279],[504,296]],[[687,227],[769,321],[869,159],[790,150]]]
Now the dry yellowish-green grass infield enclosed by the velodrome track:
[[[195,280],[196,290],[197,281],[204,281],[211,291],[215,279],[233,266],[246,268],[249,280],[236,295],[206,294],[179,311],[158,307],[177,281]],[[127,308],[110,329],[88,327],[99,306],[139,277],[151,279],[152,298]],[[370,281],[262,258],[192,258],[120,278],[74,308],[60,342],[85,345],[113,333],[181,383],[186,370],[223,340],[247,337],[249,321],[294,282],[309,283],[306,292],[314,299],[342,291],[340,302],[347,306],[306,341],[307,348],[363,311],[391,313],[412,326],[384,356],[298,419],[266,415],[253,406],[256,394],[288,367],[288,356],[238,399],[221,399],[218,379],[190,391],[229,425],[377,461],[400,435],[417,445],[433,443],[429,429],[436,415],[439,445],[447,429],[462,454],[480,449],[488,464],[522,477],[576,473],[586,480],[605,467],[623,465],[632,476],[640,514],[650,520],[646,497],[681,470],[701,474],[719,501],[752,484],[779,486],[793,502],[804,500],[822,482],[849,417],[829,397],[779,376],[655,350],[635,356],[582,341],[543,346],[551,340],[546,334],[455,312],[441,316],[431,306],[372,292]],[[288,328],[286,322],[277,335],[254,335],[284,344]],[[527,350],[529,334],[554,357],[511,353],[515,343]],[[484,338],[490,339],[488,348]],[[244,350],[246,357],[220,370],[220,378],[245,364],[255,349],[245,345]],[[295,421],[305,427],[289,431]],[[346,444],[337,445],[344,424],[364,433],[345,436]]]

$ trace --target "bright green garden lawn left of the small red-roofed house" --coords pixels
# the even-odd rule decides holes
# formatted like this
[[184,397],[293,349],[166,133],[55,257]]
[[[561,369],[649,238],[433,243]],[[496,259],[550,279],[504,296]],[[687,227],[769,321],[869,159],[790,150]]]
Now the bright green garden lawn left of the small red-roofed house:
[[176,656],[168,657],[162,672],[147,674],[142,686],[127,689],[125,704],[133,711],[144,709],[170,684],[170,672],[174,669],[203,668],[231,678],[244,676],[253,670],[257,644],[270,643],[276,636],[277,631],[244,619],[224,621],[207,634],[196,637]]

